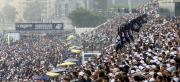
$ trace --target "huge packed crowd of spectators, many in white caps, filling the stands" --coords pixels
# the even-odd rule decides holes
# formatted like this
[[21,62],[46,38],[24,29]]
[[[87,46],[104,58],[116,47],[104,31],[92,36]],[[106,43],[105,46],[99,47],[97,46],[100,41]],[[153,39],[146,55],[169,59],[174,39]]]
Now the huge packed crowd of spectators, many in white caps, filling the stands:
[[[97,50],[101,55],[85,65],[69,66],[50,79],[36,80],[63,62],[67,35],[21,36],[10,45],[1,42],[0,82],[179,82],[180,17],[159,16],[155,0],[137,10],[116,14],[95,30],[77,35],[73,40],[85,52]],[[134,41],[116,51],[118,27],[140,14],[148,15],[146,25],[134,33]]]

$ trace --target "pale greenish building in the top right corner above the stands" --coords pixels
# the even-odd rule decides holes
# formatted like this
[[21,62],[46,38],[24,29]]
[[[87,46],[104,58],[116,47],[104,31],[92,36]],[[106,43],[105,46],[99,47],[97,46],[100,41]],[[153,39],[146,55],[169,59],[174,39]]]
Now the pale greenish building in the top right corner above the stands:
[[160,15],[180,16],[180,0],[159,0]]

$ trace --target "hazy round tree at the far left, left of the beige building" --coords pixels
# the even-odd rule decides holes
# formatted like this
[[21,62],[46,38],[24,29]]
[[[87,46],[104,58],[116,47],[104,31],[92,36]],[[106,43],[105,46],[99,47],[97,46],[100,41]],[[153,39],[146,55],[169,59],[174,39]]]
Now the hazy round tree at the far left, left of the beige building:
[[18,14],[18,12],[16,11],[16,9],[10,5],[6,5],[3,8],[4,11],[4,16],[6,20],[10,20],[12,22],[15,21],[16,15]]

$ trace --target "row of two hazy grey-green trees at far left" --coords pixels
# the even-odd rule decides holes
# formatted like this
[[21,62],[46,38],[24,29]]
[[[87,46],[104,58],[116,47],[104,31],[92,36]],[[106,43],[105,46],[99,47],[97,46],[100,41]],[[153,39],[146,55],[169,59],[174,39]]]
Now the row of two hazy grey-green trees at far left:
[[[40,5],[38,0],[28,4],[28,6],[24,9],[25,11],[22,12],[24,19],[27,20],[28,18],[40,18],[42,13],[42,7],[43,5]],[[3,8],[2,12],[0,12],[0,22],[2,22],[2,20],[15,22],[16,16],[19,14],[16,9],[10,5],[6,5]]]

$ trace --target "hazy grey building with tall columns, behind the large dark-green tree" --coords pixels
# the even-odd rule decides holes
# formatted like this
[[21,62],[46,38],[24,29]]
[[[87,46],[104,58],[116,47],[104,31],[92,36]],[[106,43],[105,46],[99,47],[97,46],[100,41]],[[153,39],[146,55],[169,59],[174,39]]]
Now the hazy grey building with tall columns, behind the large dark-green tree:
[[54,17],[56,19],[68,18],[71,11],[80,7],[85,8],[83,0],[56,0]]

